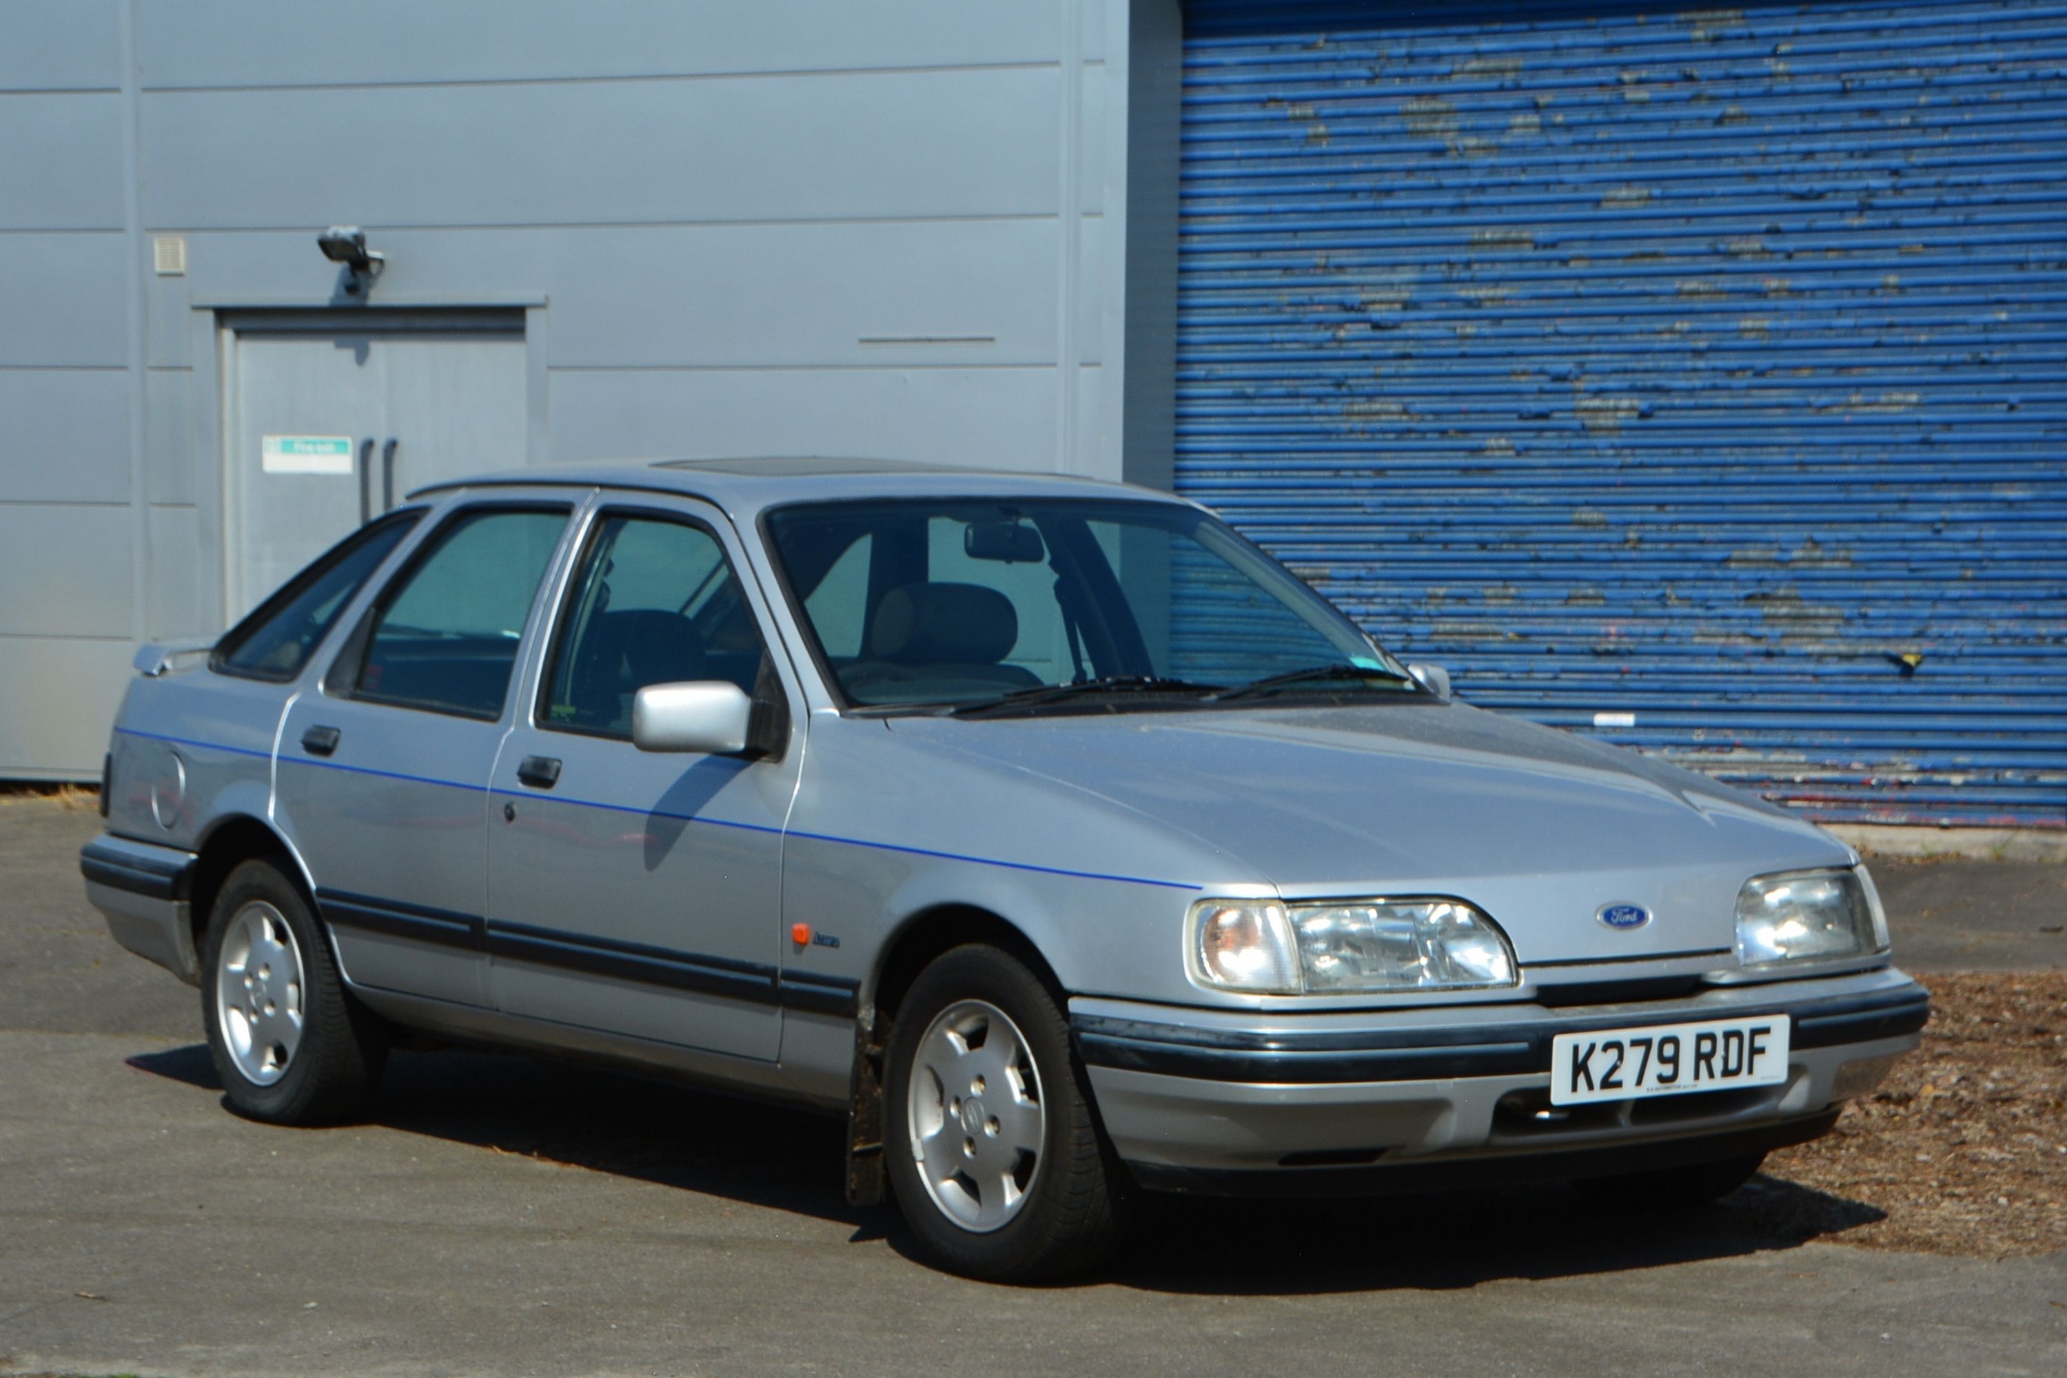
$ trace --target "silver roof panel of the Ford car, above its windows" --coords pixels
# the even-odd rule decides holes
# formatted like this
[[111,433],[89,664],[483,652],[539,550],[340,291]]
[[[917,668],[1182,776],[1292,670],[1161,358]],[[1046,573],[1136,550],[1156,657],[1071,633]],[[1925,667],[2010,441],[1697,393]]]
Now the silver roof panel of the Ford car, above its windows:
[[804,500],[858,498],[1155,498],[1170,494],[1067,473],[1027,473],[978,465],[920,465],[901,459],[835,455],[761,455],[728,459],[593,461],[511,469],[420,488],[415,496],[463,488],[622,488],[703,498],[734,519]]

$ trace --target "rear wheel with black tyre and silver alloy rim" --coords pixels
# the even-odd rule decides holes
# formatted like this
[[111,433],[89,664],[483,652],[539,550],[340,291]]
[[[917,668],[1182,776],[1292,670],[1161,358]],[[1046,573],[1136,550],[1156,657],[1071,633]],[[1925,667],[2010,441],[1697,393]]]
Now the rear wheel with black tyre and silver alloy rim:
[[335,1124],[366,1109],[387,1031],[345,992],[308,901],[277,866],[229,872],[200,973],[200,1019],[232,1109],[267,1124]]

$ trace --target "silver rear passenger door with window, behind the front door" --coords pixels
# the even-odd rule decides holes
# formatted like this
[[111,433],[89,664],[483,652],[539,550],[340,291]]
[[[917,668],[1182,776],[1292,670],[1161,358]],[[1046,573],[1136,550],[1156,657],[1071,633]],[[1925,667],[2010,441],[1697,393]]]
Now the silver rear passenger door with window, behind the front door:
[[577,494],[465,502],[287,709],[279,806],[349,979],[486,1004],[488,775]]

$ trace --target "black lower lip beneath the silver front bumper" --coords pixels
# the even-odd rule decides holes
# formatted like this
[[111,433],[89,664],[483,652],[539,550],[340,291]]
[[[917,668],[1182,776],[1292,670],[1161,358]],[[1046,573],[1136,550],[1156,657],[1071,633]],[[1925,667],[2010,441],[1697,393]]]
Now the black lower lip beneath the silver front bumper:
[[1835,1109],[1821,1109],[1800,1120],[1780,1120],[1740,1130],[1689,1134],[1685,1138],[1649,1138],[1598,1149],[1559,1149],[1550,1153],[1509,1151],[1480,1153],[1443,1163],[1375,1163],[1358,1167],[1261,1167],[1211,1169],[1168,1167],[1162,1163],[1129,1163],[1135,1182],[1153,1192],[1197,1192],[1201,1196],[1391,1196],[1399,1192],[1434,1192],[1455,1186],[1484,1188],[1515,1182],[1559,1182],[1569,1178],[1600,1178],[1647,1167],[1680,1167],[1714,1163],[1749,1153],[1771,1153],[1809,1142],[1829,1132]]

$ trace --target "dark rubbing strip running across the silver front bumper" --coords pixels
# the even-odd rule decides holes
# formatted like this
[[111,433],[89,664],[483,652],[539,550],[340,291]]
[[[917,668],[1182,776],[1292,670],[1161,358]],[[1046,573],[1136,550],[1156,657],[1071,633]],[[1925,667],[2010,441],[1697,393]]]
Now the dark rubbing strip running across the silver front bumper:
[[1071,1033],[1091,1066],[1164,1076],[1244,1083],[1426,1081],[1439,1076],[1515,1076],[1550,1070],[1550,1039],[1592,1029],[1641,1029],[1693,1019],[1790,1014],[1790,1047],[1835,1047],[1898,1037],[1924,1027],[1931,996],[1906,985],[1873,996],[1833,996],[1811,1004],[1759,1004],[1730,1010],[1656,1010],[1569,1021],[1515,1021],[1451,1029],[1253,1031],[1201,1029],[1137,1019],[1077,1014]]

